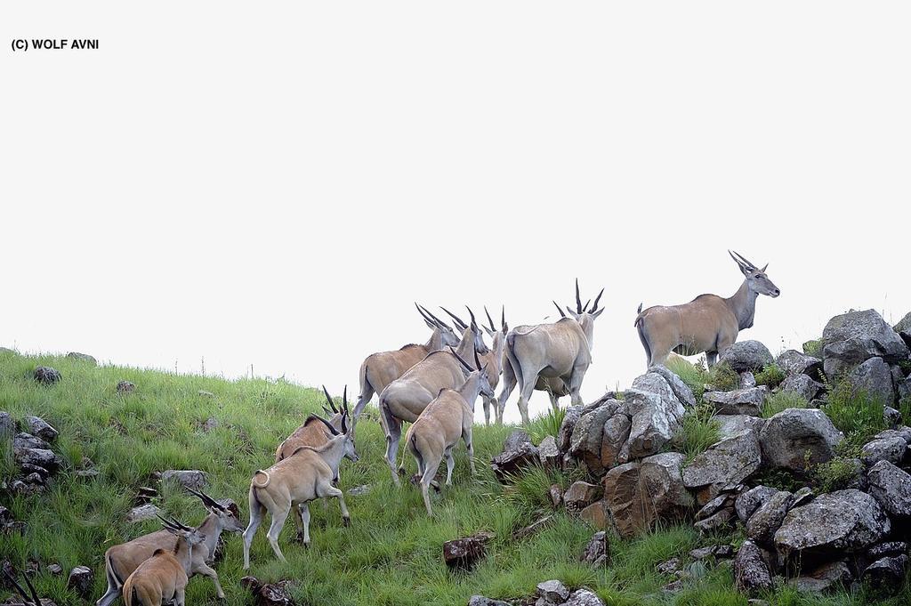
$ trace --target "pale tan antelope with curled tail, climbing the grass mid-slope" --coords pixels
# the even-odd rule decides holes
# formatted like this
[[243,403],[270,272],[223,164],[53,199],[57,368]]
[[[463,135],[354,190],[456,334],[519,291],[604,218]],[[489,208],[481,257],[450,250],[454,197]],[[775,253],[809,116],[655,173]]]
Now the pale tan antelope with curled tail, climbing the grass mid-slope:
[[265,510],[272,518],[267,534],[272,550],[279,560],[285,561],[279,548],[279,534],[294,509],[297,536],[305,547],[310,546],[310,501],[316,498],[338,498],[344,525],[351,523],[344,493],[333,486],[338,477],[343,457],[357,460],[354,452],[353,425],[346,423],[348,406],[342,405],[342,430],[336,430],[328,421],[333,437],[322,447],[297,447],[290,457],[284,458],[266,470],[259,470],[250,482],[250,525],[243,531],[243,568],[250,568],[250,545],[259,528]]

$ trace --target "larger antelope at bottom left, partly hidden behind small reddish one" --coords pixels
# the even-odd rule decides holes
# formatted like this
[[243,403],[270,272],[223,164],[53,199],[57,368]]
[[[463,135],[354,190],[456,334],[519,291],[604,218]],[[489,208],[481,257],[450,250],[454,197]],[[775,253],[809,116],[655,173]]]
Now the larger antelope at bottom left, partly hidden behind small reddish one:
[[[218,592],[219,599],[223,600],[225,592],[221,589],[219,575],[206,563],[206,560],[210,560],[215,553],[215,547],[219,543],[222,531],[241,532],[243,530],[240,512],[237,511],[237,508],[222,506],[205,493],[196,490],[189,490],[189,492],[200,498],[203,506],[209,511],[209,515],[196,527],[205,537],[205,549],[193,550],[193,558],[187,573],[189,576],[202,574],[209,577],[215,583],[215,591]],[[174,535],[165,529],[115,545],[105,551],[107,591],[96,602],[97,606],[108,606],[117,600],[124,580],[138,568],[139,564],[151,558],[156,550],[171,551],[174,550],[175,545]]]

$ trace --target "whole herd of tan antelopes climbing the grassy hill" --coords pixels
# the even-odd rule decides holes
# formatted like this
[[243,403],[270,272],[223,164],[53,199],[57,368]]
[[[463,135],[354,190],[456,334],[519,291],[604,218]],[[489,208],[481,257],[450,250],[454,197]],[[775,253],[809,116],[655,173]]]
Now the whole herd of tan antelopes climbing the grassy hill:
[[[719,354],[731,346],[740,331],[752,326],[756,298],[759,294],[777,297],[781,291],[765,273],[741,255],[731,256],[742,272],[740,289],[729,298],[702,294],[690,303],[654,306],[636,317],[635,327],[648,358],[648,365],[663,364],[671,352],[706,354],[713,365]],[[445,458],[448,486],[452,481],[455,458],[453,448],[462,440],[466,444],[471,473],[475,473],[472,426],[475,402],[484,403],[486,424],[491,412],[496,423],[502,423],[509,395],[518,387],[518,410],[522,422],[528,423],[528,399],[535,390],[545,391],[551,406],[558,408],[558,398],[569,395],[573,405],[581,403],[579,389],[591,364],[595,320],[604,312],[599,307],[604,290],[582,304],[576,282],[575,309],[567,306],[564,313],[557,303],[560,318],[549,324],[519,325],[509,330],[506,312],[501,310],[500,326],[490,313],[489,325],[478,325],[475,313],[468,309],[470,320],[442,308],[454,326],[450,326],[421,305],[417,307],[431,334],[425,344],[406,344],[400,349],[371,354],[360,369],[357,403],[349,411],[347,388],[342,405],[336,407],[323,387],[328,406],[325,417],[309,415],[291,436],[275,451],[266,469],[256,471],[250,482],[250,523],[243,529],[239,512],[221,505],[208,495],[191,491],[200,498],[209,515],[200,526],[191,528],[175,519],[161,519],[163,530],[111,547],[105,553],[107,591],[97,606],[107,606],[122,594],[128,606],[158,606],[162,601],[184,603],[184,588],[194,574],[210,577],[219,598],[224,597],[218,574],[210,560],[222,531],[243,533],[243,567],[250,567],[250,548],[256,530],[266,511],[271,515],[267,538],[275,556],[284,561],[279,547],[279,534],[289,513],[297,525],[297,538],[304,546],[310,543],[310,502],[317,498],[336,498],[347,526],[350,522],[342,490],[336,488],[343,458],[356,462],[354,432],[358,418],[374,395],[379,396],[380,423],[386,449],[384,459],[396,485],[403,467],[396,467],[398,445],[405,423],[411,424],[405,435],[405,449],[415,458],[417,478],[428,516],[433,516],[430,488]],[[590,306],[589,306],[590,305]],[[487,347],[484,333],[491,339]],[[495,389],[502,375],[500,395]],[[327,418],[328,417],[328,418]],[[36,603],[36,593],[26,577],[26,591],[9,578],[26,604]]]

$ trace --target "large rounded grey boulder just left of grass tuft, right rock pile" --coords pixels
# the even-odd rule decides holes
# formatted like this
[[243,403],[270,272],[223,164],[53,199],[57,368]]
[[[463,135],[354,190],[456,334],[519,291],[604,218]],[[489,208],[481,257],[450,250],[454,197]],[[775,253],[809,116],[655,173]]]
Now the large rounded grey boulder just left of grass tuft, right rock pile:
[[843,439],[829,417],[815,408],[783,410],[766,421],[759,434],[766,465],[793,471],[828,461]]

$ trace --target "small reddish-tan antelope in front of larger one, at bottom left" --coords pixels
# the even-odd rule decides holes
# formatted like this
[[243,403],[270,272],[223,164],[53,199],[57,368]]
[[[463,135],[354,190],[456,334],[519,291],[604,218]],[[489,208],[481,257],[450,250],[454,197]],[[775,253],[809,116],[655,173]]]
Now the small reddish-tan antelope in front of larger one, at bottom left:
[[176,519],[158,518],[165,531],[177,537],[177,543],[172,550],[155,550],[151,558],[127,577],[123,584],[123,601],[127,606],[161,606],[162,603],[184,606],[193,548],[206,537]]

